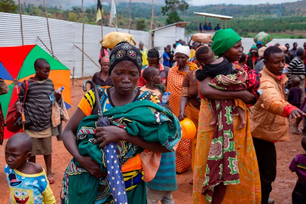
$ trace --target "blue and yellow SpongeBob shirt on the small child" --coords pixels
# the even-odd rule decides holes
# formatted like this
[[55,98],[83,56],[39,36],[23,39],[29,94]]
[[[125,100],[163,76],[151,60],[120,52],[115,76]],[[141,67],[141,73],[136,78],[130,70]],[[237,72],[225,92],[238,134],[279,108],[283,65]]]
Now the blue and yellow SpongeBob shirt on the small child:
[[9,183],[10,204],[55,204],[55,198],[45,170],[38,174],[24,174],[5,166]]

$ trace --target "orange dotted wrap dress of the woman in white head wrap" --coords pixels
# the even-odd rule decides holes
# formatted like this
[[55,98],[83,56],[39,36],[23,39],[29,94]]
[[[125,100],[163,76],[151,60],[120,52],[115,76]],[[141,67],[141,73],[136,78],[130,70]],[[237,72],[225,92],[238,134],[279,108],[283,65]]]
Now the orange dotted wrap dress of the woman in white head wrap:
[[[186,63],[190,70],[196,70],[198,67],[195,63]],[[180,114],[180,101],[182,93],[182,84],[187,72],[179,71],[178,65],[173,66],[168,72],[167,79],[167,92],[171,92],[169,99],[169,106],[173,110],[175,116],[178,117]],[[186,106],[185,113],[189,118],[189,108]],[[181,139],[177,150],[176,150],[176,171],[178,173],[185,172],[192,163],[192,140],[191,139]]]

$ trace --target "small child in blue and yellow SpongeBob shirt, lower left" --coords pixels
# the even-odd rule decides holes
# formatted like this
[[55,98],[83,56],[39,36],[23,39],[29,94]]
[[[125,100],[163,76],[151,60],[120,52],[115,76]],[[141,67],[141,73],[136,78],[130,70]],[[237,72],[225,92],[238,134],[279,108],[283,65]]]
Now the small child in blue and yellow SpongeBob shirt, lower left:
[[25,133],[14,134],[6,143],[4,172],[9,183],[10,203],[55,204],[45,170],[27,161],[33,140]]

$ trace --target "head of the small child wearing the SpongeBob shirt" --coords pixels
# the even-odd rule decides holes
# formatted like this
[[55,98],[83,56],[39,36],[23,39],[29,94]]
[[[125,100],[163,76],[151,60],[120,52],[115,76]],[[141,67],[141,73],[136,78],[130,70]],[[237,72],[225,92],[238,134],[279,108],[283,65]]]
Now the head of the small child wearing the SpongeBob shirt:
[[17,169],[30,159],[32,138],[25,133],[14,134],[5,145],[5,161],[11,169]]

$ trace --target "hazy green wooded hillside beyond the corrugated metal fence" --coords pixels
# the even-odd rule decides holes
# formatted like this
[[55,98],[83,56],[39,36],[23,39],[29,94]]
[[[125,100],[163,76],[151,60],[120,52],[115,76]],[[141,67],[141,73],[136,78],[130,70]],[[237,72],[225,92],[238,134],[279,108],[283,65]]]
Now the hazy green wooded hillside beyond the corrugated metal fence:
[[[17,0],[15,0],[17,1]],[[82,10],[75,0],[46,0],[50,18],[66,21],[82,22]],[[96,1],[84,0],[85,22],[96,24]],[[111,0],[103,0],[103,3]],[[44,16],[44,8],[41,6],[42,0],[22,1],[22,13],[26,15]],[[52,2],[52,3],[51,3]],[[151,2],[145,0],[145,2]],[[154,0],[154,21],[153,28],[165,25],[166,16],[162,15],[162,3],[164,0]],[[159,4],[160,3],[160,4]],[[62,5],[62,6],[60,6]],[[129,23],[129,0],[116,0],[118,27],[128,28]],[[103,4],[103,24],[108,25],[110,5]],[[16,13],[18,11],[16,10]],[[185,21],[191,22],[186,26],[186,34],[197,32],[198,23],[204,23],[204,17],[197,18],[193,12],[206,12],[233,16],[230,27],[236,30],[241,36],[248,36],[249,33],[260,31],[270,33],[287,34],[288,38],[306,38],[306,0],[282,3],[282,4],[259,4],[259,5],[205,5],[190,6],[185,13],[179,11],[178,14]],[[132,0],[132,24],[131,29],[136,28],[136,22],[145,20],[145,26],[141,29],[149,30],[151,20],[151,4],[144,3],[144,0]],[[199,19],[199,21],[198,21]],[[207,23],[211,22],[213,29],[220,22],[218,18],[207,18]],[[98,22],[100,25],[100,22]],[[220,24],[221,25],[221,24]]]

